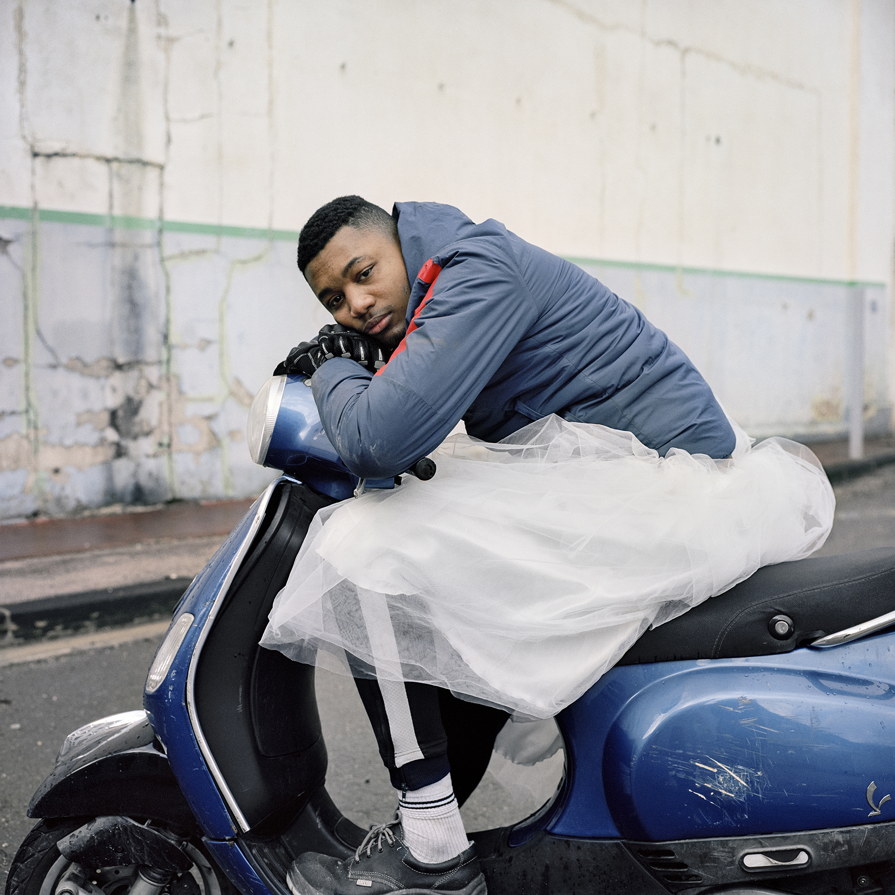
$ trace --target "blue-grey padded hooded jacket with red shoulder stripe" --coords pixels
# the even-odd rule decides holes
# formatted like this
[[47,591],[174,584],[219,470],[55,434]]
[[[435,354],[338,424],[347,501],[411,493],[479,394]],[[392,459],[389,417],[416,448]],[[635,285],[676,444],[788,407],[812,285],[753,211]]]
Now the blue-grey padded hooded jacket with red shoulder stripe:
[[342,358],[311,381],[329,439],[364,478],[430,453],[462,418],[498,441],[558,413],[720,458],[735,437],[680,348],[581,268],[495,220],[398,202],[411,283],[407,335],[374,376]]

